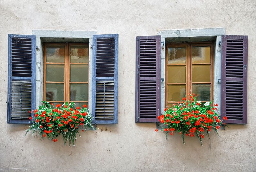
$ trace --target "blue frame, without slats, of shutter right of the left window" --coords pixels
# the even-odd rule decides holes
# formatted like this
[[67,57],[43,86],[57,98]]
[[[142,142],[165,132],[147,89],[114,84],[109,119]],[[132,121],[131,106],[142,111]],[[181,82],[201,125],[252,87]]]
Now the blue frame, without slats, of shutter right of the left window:
[[[92,71],[92,124],[117,124],[118,119],[118,34],[93,35],[93,71]],[[115,69],[114,77],[96,77],[96,50],[97,38],[115,38]],[[114,80],[114,119],[113,120],[96,120],[96,81],[113,81]]]

